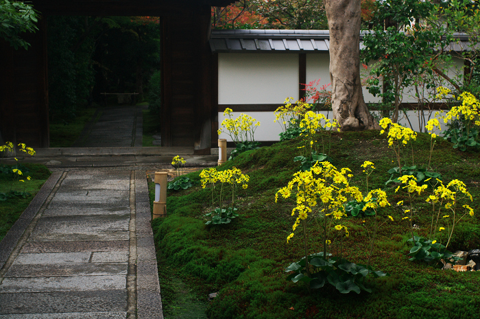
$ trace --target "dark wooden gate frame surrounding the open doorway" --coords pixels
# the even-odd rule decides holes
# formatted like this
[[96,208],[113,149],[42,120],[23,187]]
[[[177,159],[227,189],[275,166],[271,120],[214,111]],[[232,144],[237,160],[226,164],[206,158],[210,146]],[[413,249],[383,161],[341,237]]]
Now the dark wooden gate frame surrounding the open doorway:
[[32,0],[41,12],[27,51],[0,44],[0,139],[49,147],[47,19],[49,15],[160,16],[162,25],[162,146],[209,154],[213,56],[208,46],[211,5],[233,0]]

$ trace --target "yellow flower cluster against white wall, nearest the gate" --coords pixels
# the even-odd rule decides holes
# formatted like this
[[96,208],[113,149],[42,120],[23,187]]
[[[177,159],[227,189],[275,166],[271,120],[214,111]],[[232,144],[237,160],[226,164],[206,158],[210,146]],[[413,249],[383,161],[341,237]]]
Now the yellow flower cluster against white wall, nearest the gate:
[[228,115],[228,119],[221,121],[221,127],[217,133],[221,134],[221,132],[226,130],[225,132],[235,143],[240,143],[242,141],[254,141],[254,133],[256,127],[260,126],[260,122],[256,121],[256,119],[250,115],[243,113],[240,113],[237,119],[232,119],[231,113],[231,108],[225,109],[224,115]]

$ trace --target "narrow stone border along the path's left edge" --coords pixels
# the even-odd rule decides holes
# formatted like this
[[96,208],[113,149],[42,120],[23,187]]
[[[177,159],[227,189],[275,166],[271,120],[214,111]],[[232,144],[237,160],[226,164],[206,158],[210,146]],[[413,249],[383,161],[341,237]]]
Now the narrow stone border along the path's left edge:
[[10,228],[10,231],[8,231],[7,235],[3,237],[2,241],[0,242],[0,270],[5,265],[5,262],[8,260],[8,257],[10,257],[10,254],[16,245],[19,243],[19,239],[25,232],[25,229],[27,229],[27,226],[30,224],[30,222],[32,222],[32,219],[35,217],[36,213],[38,213],[38,210],[43,205],[45,200],[47,200],[51,190],[53,187],[55,187],[62,174],[63,172],[59,171],[53,172],[50,175],[32,202],[30,202],[25,211],[23,211],[12,228]]

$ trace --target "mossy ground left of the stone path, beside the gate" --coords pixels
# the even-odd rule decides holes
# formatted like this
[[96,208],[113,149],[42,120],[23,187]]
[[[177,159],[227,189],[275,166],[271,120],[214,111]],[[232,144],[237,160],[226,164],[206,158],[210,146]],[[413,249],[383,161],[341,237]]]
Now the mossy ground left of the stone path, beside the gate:
[[[23,180],[20,182],[14,174],[5,174],[4,169],[7,166],[1,166],[3,169],[0,172],[0,193],[8,193],[12,191],[27,192],[29,195],[23,197],[8,198],[7,200],[0,200],[0,241],[5,237],[8,230],[12,228],[16,220],[25,211],[28,204],[35,197],[42,185],[47,181],[51,172],[45,165],[25,164],[19,168],[23,173]],[[8,167],[9,169],[11,167]],[[32,179],[27,180],[26,176]]]

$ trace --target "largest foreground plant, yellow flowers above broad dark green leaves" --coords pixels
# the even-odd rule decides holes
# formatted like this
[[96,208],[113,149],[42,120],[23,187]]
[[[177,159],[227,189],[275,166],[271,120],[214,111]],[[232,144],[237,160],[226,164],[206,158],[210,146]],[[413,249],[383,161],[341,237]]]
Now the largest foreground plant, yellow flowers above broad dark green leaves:
[[[293,174],[293,179],[287,187],[277,191],[275,202],[282,198],[295,196],[296,206],[291,211],[296,216],[292,226],[293,232],[287,237],[287,243],[294,236],[298,226],[301,228],[304,242],[304,257],[287,267],[291,272],[287,280],[294,283],[302,281],[309,285],[309,289],[323,287],[326,282],[331,283],[341,293],[365,290],[363,279],[373,272],[368,266],[350,263],[342,258],[344,237],[350,233],[348,228],[340,223],[346,217],[344,205],[348,197],[362,200],[357,187],[349,185],[350,169],[338,170],[329,162],[315,163],[309,171],[300,171]],[[316,224],[320,228],[320,243],[322,252],[310,254],[307,245],[310,231],[307,225]],[[335,242],[336,241],[336,242]],[[337,246],[337,256],[332,257],[328,251],[333,244]],[[383,272],[375,272],[374,276],[385,276]]]

